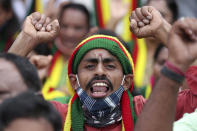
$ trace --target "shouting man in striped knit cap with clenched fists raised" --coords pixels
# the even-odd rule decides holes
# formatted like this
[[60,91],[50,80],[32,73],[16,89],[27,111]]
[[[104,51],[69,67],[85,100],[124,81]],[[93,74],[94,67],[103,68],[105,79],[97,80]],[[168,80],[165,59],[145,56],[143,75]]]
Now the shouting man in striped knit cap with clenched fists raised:
[[[141,19],[147,18],[144,28],[139,28],[139,19],[131,16],[131,30],[139,37],[152,36],[167,41],[171,26],[164,21],[159,12],[152,7],[144,7],[137,13]],[[137,15],[137,16],[138,16]],[[133,19],[133,20],[132,20]],[[135,21],[135,20],[137,21]],[[43,21],[45,31],[36,28],[36,22]],[[27,55],[37,44],[55,38],[59,25],[57,20],[45,22],[42,15],[32,14],[27,17],[23,30],[10,49],[10,52]],[[171,42],[173,50],[177,45]],[[173,45],[173,46],[172,46]],[[23,48],[22,48],[23,47]],[[177,65],[177,50],[172,64]],[[167,70],[168,71],[168,70]],[[141,96],[131,96],[133,80],[133,62],[130,54],[115,37],[93,35],[82,41],[74,50],[68,64],[68,88],[72,95],[68,105],[53,102],[61,113],[64,130],[107,130],[132,131],[136,115],[139,115],[144,104]],[[182,82],[182,76],[180,76]],[[170,80],[164,77],[158,86],[171,86]]]

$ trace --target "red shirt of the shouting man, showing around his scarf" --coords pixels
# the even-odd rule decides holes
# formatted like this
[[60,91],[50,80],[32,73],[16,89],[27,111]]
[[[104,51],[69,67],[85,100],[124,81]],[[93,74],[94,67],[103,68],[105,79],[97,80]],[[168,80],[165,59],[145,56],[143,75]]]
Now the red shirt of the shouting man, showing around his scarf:
[[[60,113],[61,117],[62,117],[62,122],[63,125],[65,123],[65,119],[66,119],[66,114],[68,111],[68,105],[66,104],[61,104],[59,102],[56,101],[52,101],[51,102],[55,108],[57,109],[57,111]],[[134,105],[134,109],[136,112],[136,115],[138,116],[143,108],[143,105],[145,103],[145,99],[142,96],[135,96],[133,99],[133,105]],[[103,128],[94,128],[94,127],[90,127],[88,125],[85,124],[84,126],[84,130],[86,131],[121,131],[122,130],[122,124],[121,123],[116,123],[110,126],[106,126]]]

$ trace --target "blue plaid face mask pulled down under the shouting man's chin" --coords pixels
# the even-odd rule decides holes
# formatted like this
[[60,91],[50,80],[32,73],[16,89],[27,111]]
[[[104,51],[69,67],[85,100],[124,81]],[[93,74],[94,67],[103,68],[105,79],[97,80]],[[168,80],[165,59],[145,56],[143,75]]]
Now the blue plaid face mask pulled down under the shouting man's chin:
[[105,127],[122,120],[120,99],[124,88],[121,85],[111,95],[103,99],[94,99],[81,88],[77,88],[82,109],[84,112],[85,123],[93,127]]

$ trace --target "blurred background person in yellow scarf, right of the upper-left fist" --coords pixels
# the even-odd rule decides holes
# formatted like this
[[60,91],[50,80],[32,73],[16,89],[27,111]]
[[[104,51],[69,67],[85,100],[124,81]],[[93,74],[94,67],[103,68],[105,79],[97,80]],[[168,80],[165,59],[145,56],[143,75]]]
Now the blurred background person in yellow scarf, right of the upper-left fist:
[[42,92],[47,100],[67,103],[70,98],[66,87],[68,59],[77,44],[88,34],[90,15],[85,6],[66,3],[61,6],[59,22],[60,31],[52,46],[53,59]]

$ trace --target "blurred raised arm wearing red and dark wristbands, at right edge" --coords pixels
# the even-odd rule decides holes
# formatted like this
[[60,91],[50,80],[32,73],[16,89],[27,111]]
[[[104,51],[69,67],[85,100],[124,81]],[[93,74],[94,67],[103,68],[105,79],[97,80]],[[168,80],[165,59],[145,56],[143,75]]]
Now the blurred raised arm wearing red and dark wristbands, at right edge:
[[[171,131],[175,117],[176,97],[185,72],[197,58],[197,20],[192,18],[177,21],[168,41],[168,63],[173,68],[162,69],[162,75],[148,99],[136,123],[135,131]],[[176,68],[176,69],[175,69]],[[171,72],[179,76],[170,75]],[[178,71],[177,71],[178,70]]]

